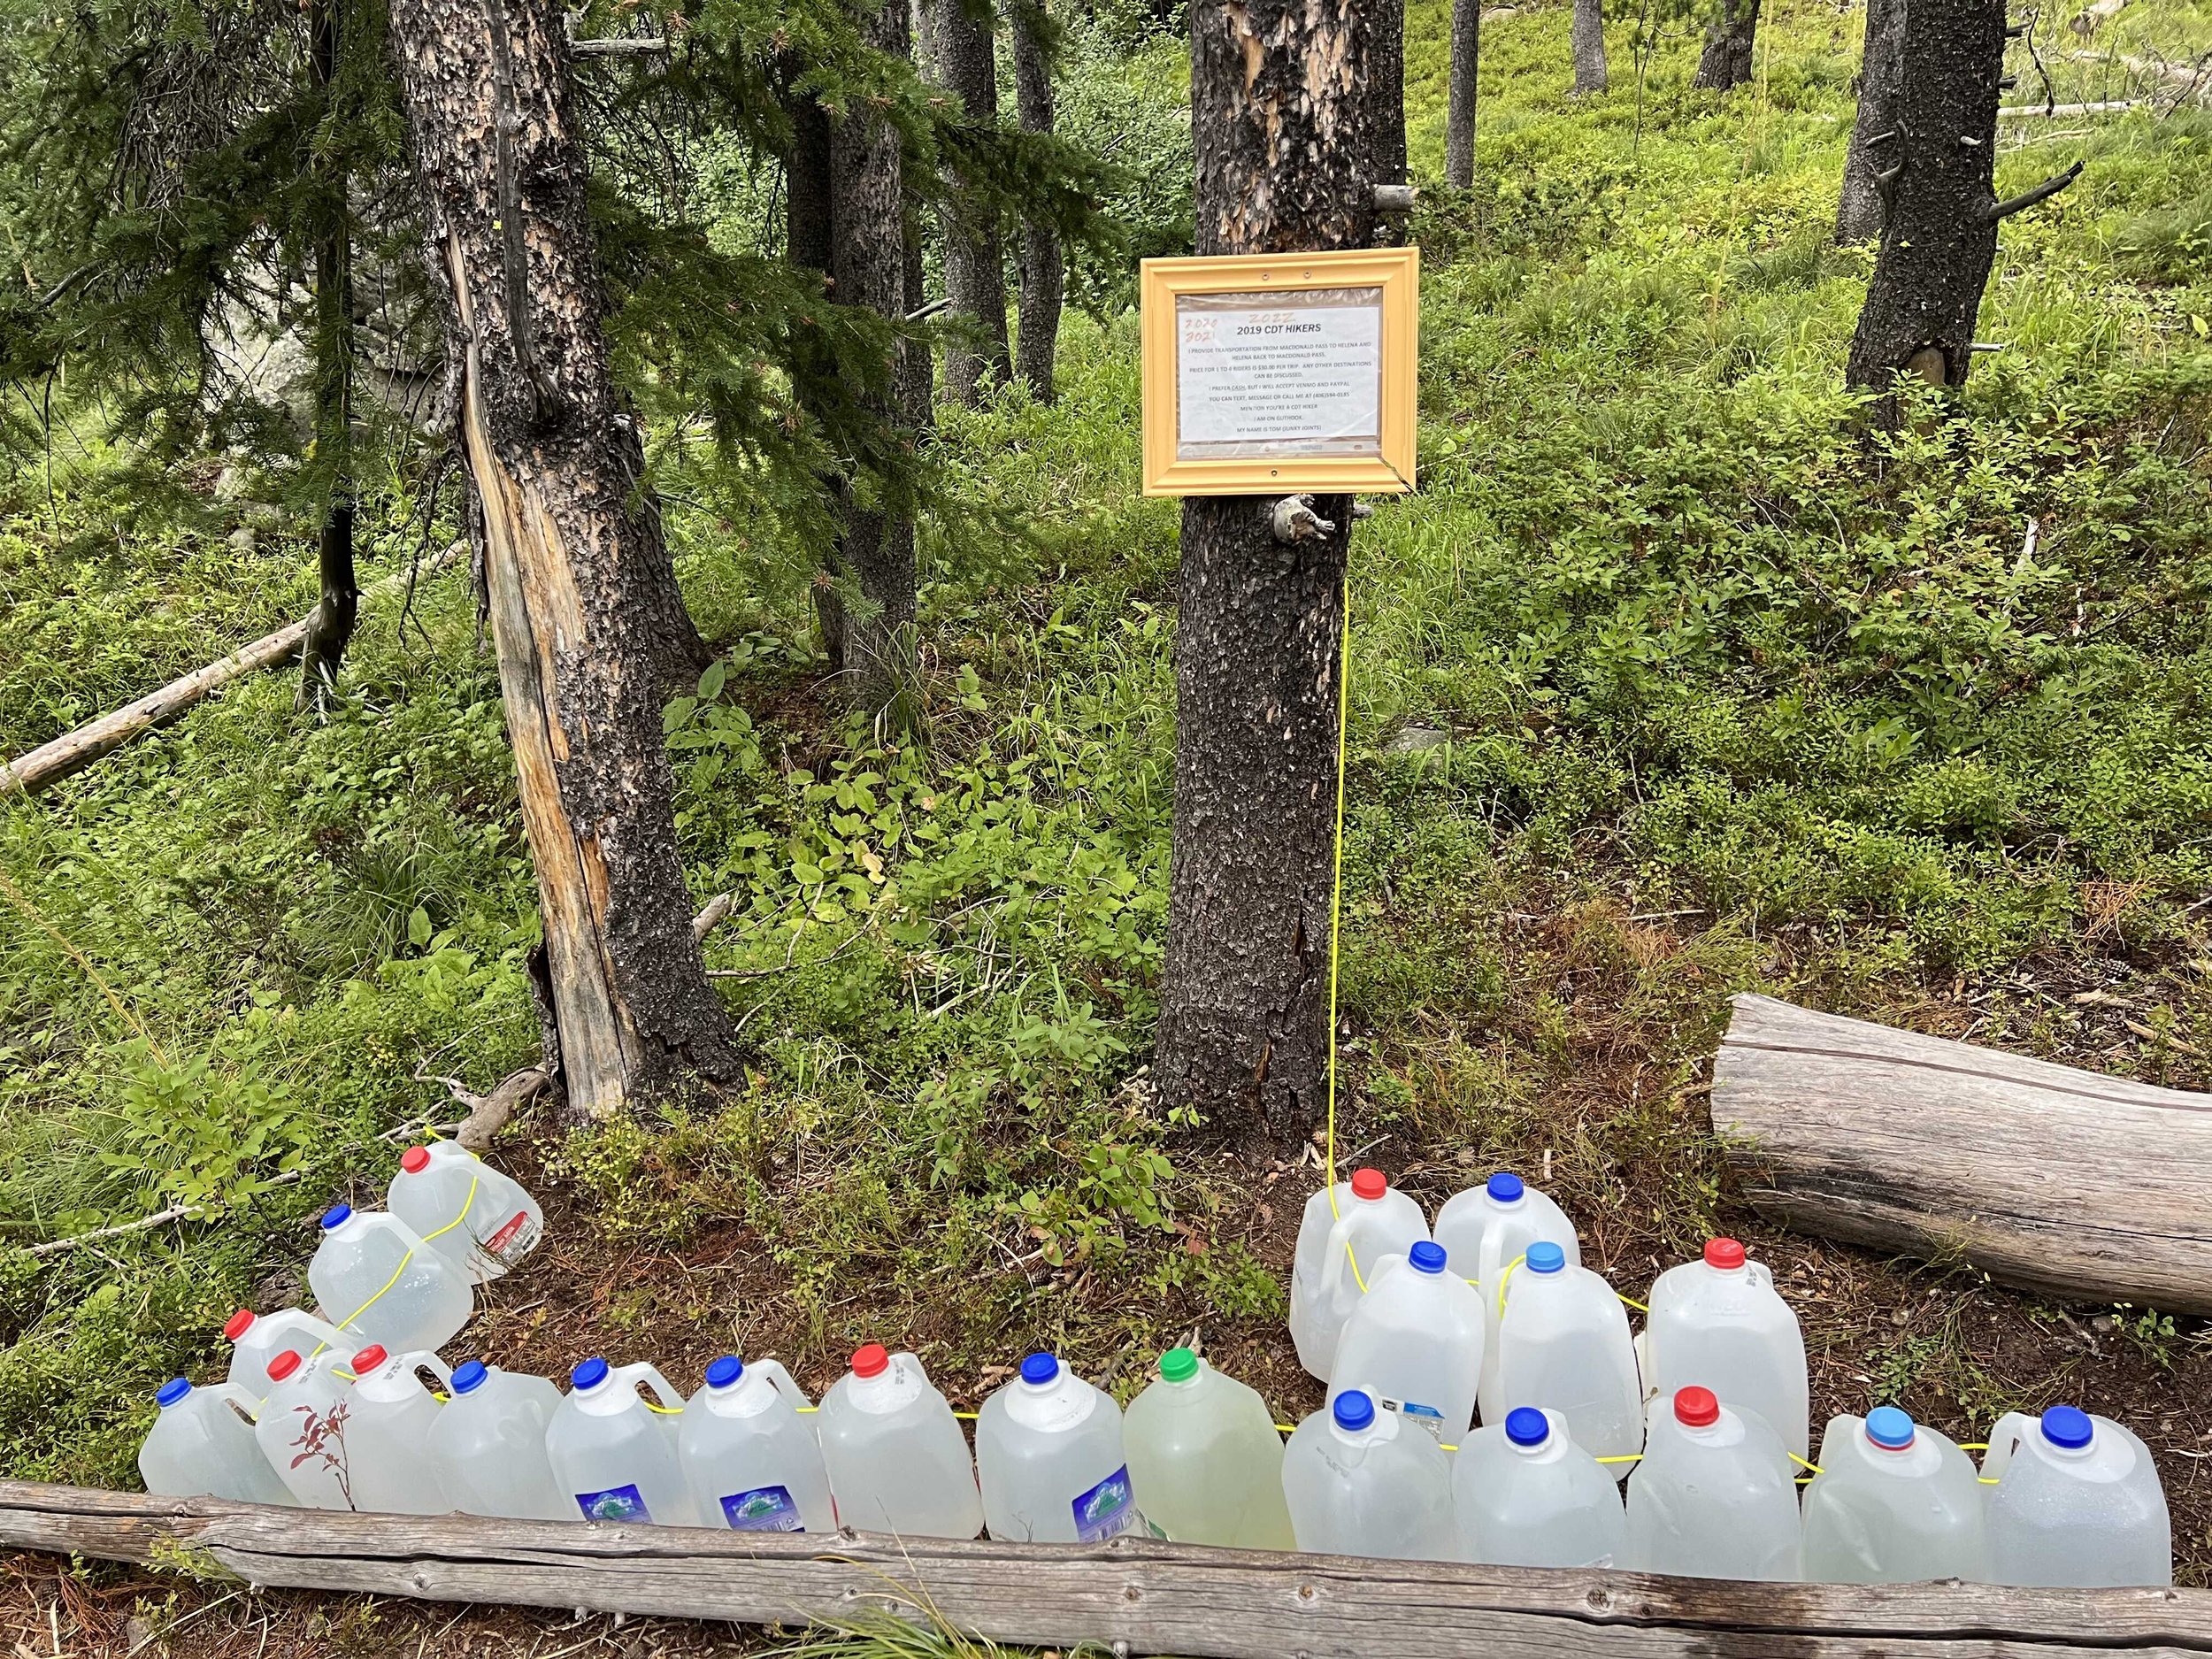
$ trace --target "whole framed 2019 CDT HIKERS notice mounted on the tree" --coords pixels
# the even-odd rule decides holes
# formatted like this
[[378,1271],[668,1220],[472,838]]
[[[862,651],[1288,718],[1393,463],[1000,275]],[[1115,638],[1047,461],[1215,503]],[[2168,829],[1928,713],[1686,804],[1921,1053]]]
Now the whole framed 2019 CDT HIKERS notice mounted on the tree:
[[1420,250],[1144,261],[1146,495],[1413,489]]

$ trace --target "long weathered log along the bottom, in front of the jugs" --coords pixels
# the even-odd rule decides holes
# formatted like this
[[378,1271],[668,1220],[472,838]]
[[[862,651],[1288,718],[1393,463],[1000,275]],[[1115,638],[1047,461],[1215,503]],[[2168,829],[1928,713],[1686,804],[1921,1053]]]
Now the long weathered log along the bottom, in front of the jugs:
[[0,1546],[429,1601],[737,1624],[894,1613],[993,1641],[1190,1659],[2212,1652],[2212,1590],[1717,1584],[1139,1537],[991,1544],[347,1515],[27,1482],[0,1482]]

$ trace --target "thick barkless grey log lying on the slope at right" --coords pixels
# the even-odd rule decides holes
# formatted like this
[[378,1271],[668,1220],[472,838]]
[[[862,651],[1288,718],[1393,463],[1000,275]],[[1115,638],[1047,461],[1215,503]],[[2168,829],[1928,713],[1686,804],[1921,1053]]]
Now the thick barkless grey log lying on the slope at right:
[[2212,1314],[2212,1095],[1739,995],[1712,1128],[1798,1232]]

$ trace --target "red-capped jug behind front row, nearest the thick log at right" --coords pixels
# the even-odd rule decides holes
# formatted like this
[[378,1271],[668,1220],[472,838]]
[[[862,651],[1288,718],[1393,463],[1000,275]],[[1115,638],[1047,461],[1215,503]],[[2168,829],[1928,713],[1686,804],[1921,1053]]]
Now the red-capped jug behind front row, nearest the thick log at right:
[[1668,1267],[1644,1321],[1644,1389],[1650,1396],[1712,1389],[1750,1407],[1805,1458],[1812,1447],[1805,1334],[1763,1261],[1734,1239],[1708,1239],[1703,1261]]

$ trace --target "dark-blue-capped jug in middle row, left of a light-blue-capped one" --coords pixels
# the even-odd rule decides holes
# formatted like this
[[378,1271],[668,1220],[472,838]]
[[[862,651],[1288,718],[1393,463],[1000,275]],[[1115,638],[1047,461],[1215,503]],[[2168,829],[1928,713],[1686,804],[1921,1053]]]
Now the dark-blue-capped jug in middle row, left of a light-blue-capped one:
[[1444,1444],[1475,1420],[1482,1378],[1482,1292],[1447,1267],[1442,1245],[1418,1241],[1385,1256],[1336,1338],[1329,1398],[1367,1389]]

